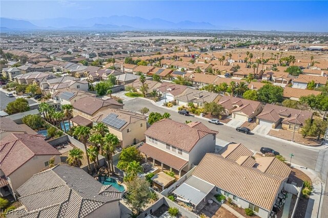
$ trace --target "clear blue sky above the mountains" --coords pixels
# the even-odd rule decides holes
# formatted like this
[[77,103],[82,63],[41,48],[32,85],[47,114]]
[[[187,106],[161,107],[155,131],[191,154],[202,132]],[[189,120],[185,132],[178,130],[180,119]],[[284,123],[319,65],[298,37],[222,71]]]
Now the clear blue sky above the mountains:
[[111,15],[205,21],[244,30],[328,32],[328,1],[1,1],[1,17]]

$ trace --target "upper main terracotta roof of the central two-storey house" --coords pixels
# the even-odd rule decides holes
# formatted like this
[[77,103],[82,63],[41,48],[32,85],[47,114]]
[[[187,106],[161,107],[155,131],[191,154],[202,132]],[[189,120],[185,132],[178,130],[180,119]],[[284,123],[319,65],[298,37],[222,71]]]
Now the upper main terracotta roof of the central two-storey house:
[[147,129],[145,135],[190,152],[199,139],[217,133],[200,123],[191,127],[185,123],[163,119],[153,123]]

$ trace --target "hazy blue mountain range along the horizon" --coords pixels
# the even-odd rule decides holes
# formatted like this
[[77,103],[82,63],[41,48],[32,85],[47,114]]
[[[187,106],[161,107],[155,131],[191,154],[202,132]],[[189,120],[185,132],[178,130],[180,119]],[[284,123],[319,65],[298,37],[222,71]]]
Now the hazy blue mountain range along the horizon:
[[240,30],[229,26],[216,26],[208,22],[190,20],[177,23],[159,18],[145,19],[132,16],[93,17],[86,19],[47,18],[23,20],[0,18],[0,27],[12,30]]

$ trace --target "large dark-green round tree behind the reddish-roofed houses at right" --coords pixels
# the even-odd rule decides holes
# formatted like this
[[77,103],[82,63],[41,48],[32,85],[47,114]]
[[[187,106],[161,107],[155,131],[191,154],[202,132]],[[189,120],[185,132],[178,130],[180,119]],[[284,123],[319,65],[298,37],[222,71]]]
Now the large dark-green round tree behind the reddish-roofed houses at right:
[[261,102],[275,103],[283,101],[283,89],[280,86],[266,84],[258,90],[258,100]]

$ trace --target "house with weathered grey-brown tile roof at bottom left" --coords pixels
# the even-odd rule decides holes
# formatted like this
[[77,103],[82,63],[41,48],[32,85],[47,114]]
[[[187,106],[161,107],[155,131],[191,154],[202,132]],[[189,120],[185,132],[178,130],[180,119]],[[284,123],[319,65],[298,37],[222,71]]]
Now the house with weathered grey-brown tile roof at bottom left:
[[66,164],[36,173],[17,192],[23,207],[8,218],[120,217],[122,192]]

